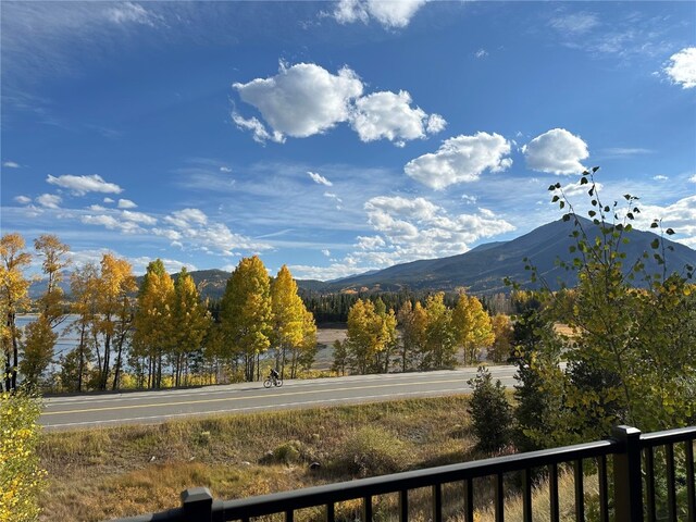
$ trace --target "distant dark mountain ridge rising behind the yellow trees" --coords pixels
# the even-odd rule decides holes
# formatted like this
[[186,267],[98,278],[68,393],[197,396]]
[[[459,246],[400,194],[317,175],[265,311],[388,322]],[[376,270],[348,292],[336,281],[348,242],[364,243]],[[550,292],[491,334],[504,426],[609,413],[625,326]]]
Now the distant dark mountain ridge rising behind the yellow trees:
[[[598,228],[589,221],[579,217],[585,231]],[[530,285],[530,273],[524,270],[524,258],[529,258],[537,268],[551,288],[558,288],[560,282],[572,286],[573,272],[566,272],[556,266],[557,259],[571,261],[569,252],[575,239],[571,237],[574,226],[572,220],[562,220],[542,225],[532,232],[509,241],[494,241],[469,250],[468,252],[447,258],[424,259],[409,263],[395,264],[384,270],[365,272],[334,281],[297,279],[298,287],[306,293],[334,294],[345,291],[399,291],[445,290],[452,291],[458,287],[467,287],[472,294],[495,294],[508,291],[504,279],[509,277],[523,287]],[[594,239],[593,233],[591,239]],[[621,251],[626,253],[626,265],[641,257],[644,251],[650,253],[645,260],[648,273],[662,270],[652,259],[650,243],[658,238],[651,232],[633,229],[627,233],[627,245]],[[667,272],[681,271],[686,264],[696,266],[696,250],[685,245],[664,238],[664,245],[672,247],[667,251]],[[225,291],[231,273],[224,270],[198,270],[189,272],[203,297],[219,299]],[[176,277],[176,274],[173,274]],[[67,277],[66,277],[67,279]],[[142,276],[138,277],[138,283]],[[63,282],[64,289],[70,293],[70,285]],[[30,297],[40,296],[46,282],[35,282],[30,287]]]

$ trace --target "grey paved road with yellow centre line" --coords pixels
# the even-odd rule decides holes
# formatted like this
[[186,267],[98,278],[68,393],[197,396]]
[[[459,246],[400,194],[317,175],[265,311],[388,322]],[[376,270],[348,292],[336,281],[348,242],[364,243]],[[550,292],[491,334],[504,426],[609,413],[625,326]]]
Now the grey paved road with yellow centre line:
[[[514,366],[492,366],[502,384],[514,384]],[[261,383],[195,389],[140,391],[45,399],[39,420],[47,430],[75,430],[120,424],[159,423],[169,419],[220,413],[247,413],[293,408],[373,402],[470,391],[473,368],[424,373],[351,375],[312,381],[286,381],[265,389]]]

